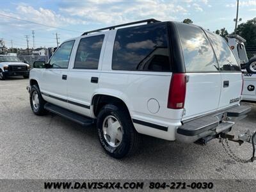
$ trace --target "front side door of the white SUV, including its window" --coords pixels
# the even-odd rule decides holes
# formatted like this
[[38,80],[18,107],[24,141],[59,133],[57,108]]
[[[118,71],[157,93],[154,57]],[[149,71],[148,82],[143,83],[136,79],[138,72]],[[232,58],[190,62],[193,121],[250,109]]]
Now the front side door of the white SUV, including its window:
[[60,45],[49,60],[48,63],[51,67],[45,68],[40,84],[40,91],[44,99],[63,108],[68,108],[67,74],[73,45],[74,40]]

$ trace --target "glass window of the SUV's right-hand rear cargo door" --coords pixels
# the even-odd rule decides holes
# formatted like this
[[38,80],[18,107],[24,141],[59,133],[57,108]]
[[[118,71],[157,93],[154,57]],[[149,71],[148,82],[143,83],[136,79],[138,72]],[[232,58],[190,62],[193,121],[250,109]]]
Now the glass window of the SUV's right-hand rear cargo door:
[[227,42],[224,38],[222,38],[220,35],[216,35],[214,33],[211,33],[209,31],[206,32],[212,47],[215,51],[218,63],[220,65],[221,71],[240,71],[239,64],[237,63],[237,60],[228,47]]

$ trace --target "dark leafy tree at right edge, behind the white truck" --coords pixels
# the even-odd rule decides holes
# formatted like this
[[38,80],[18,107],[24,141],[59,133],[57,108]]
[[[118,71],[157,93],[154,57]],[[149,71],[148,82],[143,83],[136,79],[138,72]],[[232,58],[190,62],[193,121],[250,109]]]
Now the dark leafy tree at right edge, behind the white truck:
[[256,17],[237,26],[237,35],[246,39],[245,45],[256,45]]

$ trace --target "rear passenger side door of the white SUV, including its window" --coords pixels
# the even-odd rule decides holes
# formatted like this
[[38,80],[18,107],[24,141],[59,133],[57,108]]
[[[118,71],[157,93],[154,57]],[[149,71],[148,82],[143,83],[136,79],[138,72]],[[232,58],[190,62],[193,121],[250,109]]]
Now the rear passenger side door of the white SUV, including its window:
[[99,86],[100,66],[104,52],[102,47],[104,47],[106,35],[82,36],[77,47],[74,66],[68,72],[68,107],[86,116],[91,116],[92,95]]

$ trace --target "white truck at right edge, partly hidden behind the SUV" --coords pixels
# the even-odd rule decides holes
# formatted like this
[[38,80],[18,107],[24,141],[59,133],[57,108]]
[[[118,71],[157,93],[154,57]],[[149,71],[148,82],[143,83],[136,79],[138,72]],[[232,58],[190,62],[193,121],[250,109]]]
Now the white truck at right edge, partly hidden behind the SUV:
[[228,45],[243,69],[242,100],[256,102],[256,56],[248,60],[244,43],[239,35],[227,35]]

